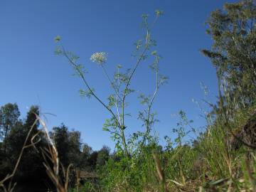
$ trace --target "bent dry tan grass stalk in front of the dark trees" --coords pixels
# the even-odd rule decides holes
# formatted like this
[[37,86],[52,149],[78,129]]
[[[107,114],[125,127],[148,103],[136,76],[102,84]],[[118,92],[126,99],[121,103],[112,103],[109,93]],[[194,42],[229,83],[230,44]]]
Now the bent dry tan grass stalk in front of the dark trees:
[[[36,151],[41,152],[44,159],[43,165],[46,167],[46,173],[48,174],[50,180],[53,181],[56,190],[58,192],[68,192],[69,172],[72,164],[70,164],[68,166],[67,171],[65,171],[64,166],[59,161],[58,151],[55,148],[55,145],[53,144],[52,139],[50,139],[49,132],[46,127],[46,123],[43,121],[43,119],[41,119],[38,116],[38,114],[35,114],[35,115],[36,115],[36,120],[35,122],[33,122],[31,129],[29,129],[29,132],[26,136],[25,142],[23,143],[20,154],[18,155],[18,159],[14,166],[14,170],[11,172],[11,174],[6,175],[6,177],[0,181],[0,187],[4,190],[4,192],[14,191],[16,183],[13,183],[13,178],[17,172],[19,164],[21,163],[21,157],[23,156],[23,152],[25,149],[29,147],[33,147],[34,149],[36,149]],[[31,137],[31,132],[38,122],[40,122],[40,124],[42,125],[42,129],[38,130],[38,132]],[[48,141],[48,147],[38,149],[36,144],[41,142],[41,137],[38,137],[38,135],[41,133],[43,133],[43,136]],[[28,142],[29,137],[31,137],[30,143]],[[63,179],[61,179],[60,177],[60,166],[61,166],[63,177],[65,178],[64,182],[63,182]],[[8,185],[6,186],[5,183],[8,183]]]

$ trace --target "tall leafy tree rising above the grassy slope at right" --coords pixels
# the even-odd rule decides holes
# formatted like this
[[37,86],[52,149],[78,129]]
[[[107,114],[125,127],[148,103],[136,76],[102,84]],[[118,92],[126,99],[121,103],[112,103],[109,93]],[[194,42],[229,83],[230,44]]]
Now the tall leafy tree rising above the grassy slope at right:
[[255,1],[227,3],[223,10],[213,11],[206,23],[213,46],[202,52],[217,70],[220,95],[226,96],[223,102],[237,107],[252,104],[256,93]]

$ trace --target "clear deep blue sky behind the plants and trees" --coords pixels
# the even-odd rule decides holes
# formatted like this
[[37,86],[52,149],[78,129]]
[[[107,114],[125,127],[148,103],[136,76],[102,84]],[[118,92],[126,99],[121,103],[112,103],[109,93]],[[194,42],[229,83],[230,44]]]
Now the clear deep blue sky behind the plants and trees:
[[[106,68],[111,73],[117,64],[131,68],[134,59],[133,43],[143,35],[141,15],[154,18],[154,10],[164,11],[153,30],[157,50],[163,57],[161,72],[169,76],[169,84],[159,91],[154,110],[160,122],[156,132],[160,137],[175,127],[177,119],[171,114],[184,110],[201,127],[201,110],[192,102],[204,98],[201,82],[210,90],[208,100],[216,94],[215,70],[199,52],[210,48],[204,22],[210,11],[221,8],[227,0],[66,0],[66,1],[0,1],[0,105],[16,102],[22,117],[31,105],[40,105],[48,115],[48,127],[61,122],[82,133],[82,141],[93,149],[103,144],[111,148],[110,134],[102,131],[102,124],[110,115],[94,99],[81,98],[78,90],[82,82],[74,77],[65,58],[54,55],[55,36],[62,37],[68,50],[80,55],[80,62],[89,70],[87,80],[103,99],[110,92],[107,80],[90,55],[108,53]],[[232,1],[228,1],[232,2]],[[143,63],[134,79],[133,87],[146,93],[153,91],[154,75]],[[129,97],[127,135],[143,130],[137,120],[137,94]],[[163,142],[163,139],[161,139]]]

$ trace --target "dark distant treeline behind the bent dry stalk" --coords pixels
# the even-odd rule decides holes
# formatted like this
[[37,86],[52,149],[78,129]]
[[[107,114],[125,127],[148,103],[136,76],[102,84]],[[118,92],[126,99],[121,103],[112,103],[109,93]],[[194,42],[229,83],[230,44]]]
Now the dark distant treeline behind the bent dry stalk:
[[[11,174],[16,165],[22,146],[33,126],[32,133],[28,141],[38,133],[40,127],[36,122],[36,114],[39,114],[38,106],[32,106],[25,119],[20,119],[20,111],[16,103],[7,103],[0,108],[0,180],[7,174]],[[36,148],[46,148],[48,142],[43,134],[39,135],[41,142],[36,144]],[[53,127],[50,137],[58,150],[58,156],[63,167],[67,168],[73,164],[70,174],[70,184],[75,179],[75,170],[95,172],[95,169],[104,165],[110,156],[110,148],[103,146],[99,151],[92,151],[92,147],[81,142],[80,132],[68,130],[65,124]],[[18,186],[30,186],[31,190],[46,191],[47,188],[54,188],[52,181],[46,174],[46,167],[43,166],[43,156],[41,152],[33,147],[23,151],[18,170],[14,176],[14,182]],[[25,188],[23,189],[23,191]]]

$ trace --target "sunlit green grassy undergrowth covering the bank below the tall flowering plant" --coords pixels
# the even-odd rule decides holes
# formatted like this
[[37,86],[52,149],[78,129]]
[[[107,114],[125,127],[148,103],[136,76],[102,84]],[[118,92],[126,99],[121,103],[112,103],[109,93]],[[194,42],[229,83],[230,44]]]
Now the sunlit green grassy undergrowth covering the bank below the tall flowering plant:
[[[233,129],[242,129],[255,109],[252,105],[237,112]],[[242,144],[239,149],[232,149],[228,142],[232,134],[224,126],[224,120],[217,118],[213,124],[209,121],[207,131],[192,144],[162,149],[154,143],[134,151],[129,159],[115,154],[98,169],[98,181],[86,181],[80,190],[255,191],[255,151]],[[153,154],[159,156],[160,164],[154,161]]]

